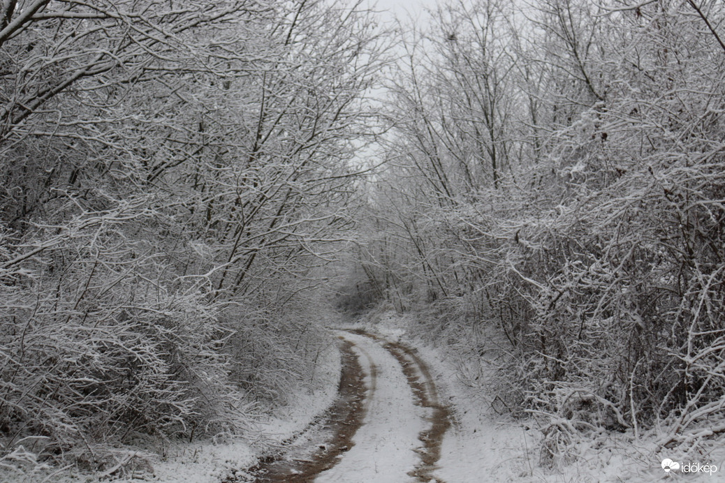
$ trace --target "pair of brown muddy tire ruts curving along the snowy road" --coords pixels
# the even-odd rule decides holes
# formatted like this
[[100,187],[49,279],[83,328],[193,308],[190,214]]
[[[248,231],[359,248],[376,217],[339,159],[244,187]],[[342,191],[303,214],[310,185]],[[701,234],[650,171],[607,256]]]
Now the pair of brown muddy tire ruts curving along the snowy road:
[[[349,330],[351,334],[368,337],[384,348],[399,364],[399,369],[407,380],[413,393],[413,404],[426,409],[426,429],[418,434],[422,444],[414,449],[419,458],[415,469],[407,475],[418,482],[444,483],[433,476],[439,460],[444,433],[450,427],[450,415],[446,406],[439,403],[434,379],[426,364],[414,350],[397,342],[392,342],[378,335],[363,330]],[[338,397],[323,416],[308,427],[305,432],[315,432],[315,444],[296,445],[300,439],[295,438],[283,443],[283,448],[274,455],[269,455],[247,470],[254,474],[254,482],[313,482],[315,478],[328,469],[333,468],[344,458],[353,445],[357,429],[365,424],[365,414],[369,400],[376,391],[378,366],[360,345],[356,345],[344,337],[339,337],[341,350],[341,377],[338,385]],[[359,358],[365,358],[366,374]],[[365,384],[365,377],[368,377]],[[224,483],[243,482],[249,480],[227,479]]]

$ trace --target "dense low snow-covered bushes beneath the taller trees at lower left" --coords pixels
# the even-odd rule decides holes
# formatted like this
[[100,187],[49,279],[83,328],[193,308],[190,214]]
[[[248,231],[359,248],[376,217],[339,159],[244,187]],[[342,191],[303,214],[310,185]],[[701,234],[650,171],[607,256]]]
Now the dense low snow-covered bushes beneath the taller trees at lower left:
[[93,453],[140,434],[239,432],[249,417],[218,350],[230,334],[218,306],[194,287],[169,290],[149,243],[129,243],[119,227],[148,222],[149,213],[123,206],[78,217],[36,242],[42,254],[30,258],[23,247],[4,256],[6,448],[37,436],[45,457]]

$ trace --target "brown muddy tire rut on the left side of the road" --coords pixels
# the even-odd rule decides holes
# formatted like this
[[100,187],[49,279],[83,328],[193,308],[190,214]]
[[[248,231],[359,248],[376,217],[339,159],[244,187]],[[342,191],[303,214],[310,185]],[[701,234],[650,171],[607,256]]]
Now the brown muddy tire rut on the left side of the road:
[[[338,463],[341,455],[352,448],[352,437],[363,424],[365,417],[365,373],[357,356],[352,350],[355,344],[341,338],[340,352],[342,371],[338,385],[338,396],[319,421],[312,424],[313,429],[322,428],[319,437],[322,443],[310,448],[291,448],[293,438],[283,443],[288,448],[275,455],[262,458],[257,466],[247,470],[254,479],[240,479],[231,476],[223,483],[234,482],[287,482],[308,483],[315,480],[322,471],[331,469]],[[376,366],[370,364],[370,390],[376,384]],[[299,457],[296,457],[299,453]]]

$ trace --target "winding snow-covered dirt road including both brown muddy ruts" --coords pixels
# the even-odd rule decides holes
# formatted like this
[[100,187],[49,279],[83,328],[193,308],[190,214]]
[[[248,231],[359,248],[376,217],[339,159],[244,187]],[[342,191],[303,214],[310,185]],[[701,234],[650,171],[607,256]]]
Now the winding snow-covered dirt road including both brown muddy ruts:
[[413,350],[376,335],[350,331],[340,337],[344,369],[337,409],[318,421],[307,444],[292,445],[284,458],[262,465],[257,481],[442,482],[436,461],[450,423],[426,365]]

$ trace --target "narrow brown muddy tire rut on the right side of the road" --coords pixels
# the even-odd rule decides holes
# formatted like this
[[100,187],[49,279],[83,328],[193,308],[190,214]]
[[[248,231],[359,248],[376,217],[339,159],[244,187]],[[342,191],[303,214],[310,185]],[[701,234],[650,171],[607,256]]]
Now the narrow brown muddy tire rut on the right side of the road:
[[443,480],[434,478],[432,473],[438,468],[436,463],[441,457],[443,435],[450,427],[450,411],[439,403],[438,391],[430,369],[412,349],[401,343],[386,340],[384,337],[360,329],[349,332],[370,337],[383,345],[402,367],[408,385],[413,390],[416,406],[431,409],[431,416],[426,418],[431,427],[418,434],[418,439],[423,442],[423,448],[417,451],[421,457],[421,464],[411,471],[409,476],[413,476],[419,482],[444,483]]

